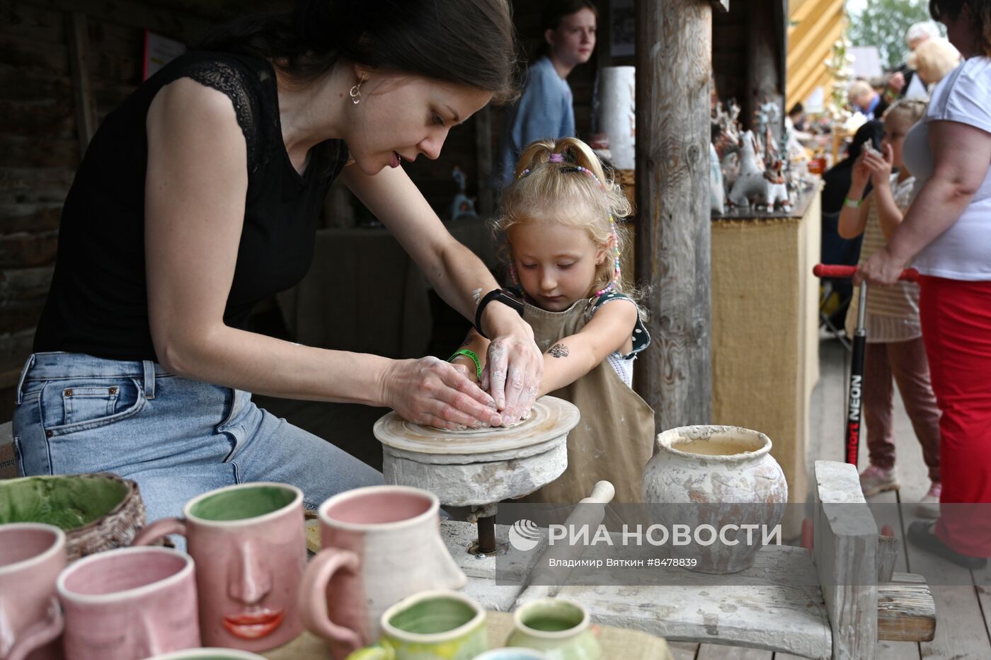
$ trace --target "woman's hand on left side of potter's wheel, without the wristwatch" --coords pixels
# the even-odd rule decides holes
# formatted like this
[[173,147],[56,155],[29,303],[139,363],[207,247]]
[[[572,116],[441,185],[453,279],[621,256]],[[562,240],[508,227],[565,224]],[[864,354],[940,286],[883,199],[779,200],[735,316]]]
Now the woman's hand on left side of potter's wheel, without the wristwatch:
[[386,405],[416,424],[458,430],[502,423],[493,397],[438,358],[393,361],[384,389]]

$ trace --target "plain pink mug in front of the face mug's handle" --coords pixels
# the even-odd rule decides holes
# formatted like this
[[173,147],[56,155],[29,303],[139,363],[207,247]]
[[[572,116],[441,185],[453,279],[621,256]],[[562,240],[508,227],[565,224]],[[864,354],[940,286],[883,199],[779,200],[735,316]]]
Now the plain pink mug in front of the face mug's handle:
[[199,646],[192,558],[170,548],[90,555],[58,576],[71,660],[140,660]]

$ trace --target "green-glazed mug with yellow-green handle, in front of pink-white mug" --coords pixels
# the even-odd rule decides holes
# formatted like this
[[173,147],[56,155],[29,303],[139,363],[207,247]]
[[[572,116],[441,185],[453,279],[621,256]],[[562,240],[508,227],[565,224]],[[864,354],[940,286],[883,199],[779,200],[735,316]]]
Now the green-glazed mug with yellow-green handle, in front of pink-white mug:
[[482,605],[457,592],[429,591],[386,609],[382,637],[348,660],[471,660],[488,648]]

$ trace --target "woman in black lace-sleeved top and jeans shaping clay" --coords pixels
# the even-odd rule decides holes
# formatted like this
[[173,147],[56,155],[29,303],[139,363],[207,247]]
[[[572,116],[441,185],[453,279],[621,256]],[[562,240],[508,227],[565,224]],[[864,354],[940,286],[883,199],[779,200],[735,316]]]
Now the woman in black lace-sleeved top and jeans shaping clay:
[[[249,481],[294,484],[316,507],[382,475],[250,392],[383,405],[446,428],[525,414],[542,373],[532,331],[399,166],[436,159],[452,127],[511,96],[513,42],[504,0],[300,2],[228,26],[141,85],[103,122],[65,200],[18,387],[21,472],[135,479],[152,518]],[[253,305],[309,268],[338,175],[494,338],[491,393],[435,358],[247,330]]]

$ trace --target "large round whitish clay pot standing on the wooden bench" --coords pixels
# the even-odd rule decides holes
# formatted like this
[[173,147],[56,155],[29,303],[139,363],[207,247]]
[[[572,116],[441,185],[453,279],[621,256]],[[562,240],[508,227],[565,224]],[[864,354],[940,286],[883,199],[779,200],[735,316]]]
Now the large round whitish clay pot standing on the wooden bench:
[[[693,542],[670,544],[671,555],[703,573],[735,573],[753,565],[765,530],[781,522],[788,483],[771,456],[771,440],[738,426],[682,426],[657,436],[657,453],[643,472],[643,499],[655,522],[687,524]],[[721,536],[694,531],[712,525]],[[748,534],[742,525],[757,525]],[[750,528],[753,530],[753,528]],[[779,536],[780,538],[780,536]],[[725,542],[728,541],[728,542]]]

